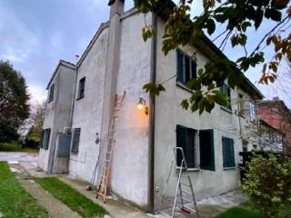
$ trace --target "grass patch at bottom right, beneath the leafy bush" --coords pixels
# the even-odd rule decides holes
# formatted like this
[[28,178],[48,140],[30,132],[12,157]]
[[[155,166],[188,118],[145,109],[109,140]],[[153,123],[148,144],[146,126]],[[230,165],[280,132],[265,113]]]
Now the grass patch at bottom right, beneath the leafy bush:
[[[286,204],[282,211],[283,217],[291,217],[291,204]],[[240,206],[230,208],[224,213],[220,213],[216,218],[262,218],[251,203],[242,203]],[[282,216],[280,216],[282,217]]]

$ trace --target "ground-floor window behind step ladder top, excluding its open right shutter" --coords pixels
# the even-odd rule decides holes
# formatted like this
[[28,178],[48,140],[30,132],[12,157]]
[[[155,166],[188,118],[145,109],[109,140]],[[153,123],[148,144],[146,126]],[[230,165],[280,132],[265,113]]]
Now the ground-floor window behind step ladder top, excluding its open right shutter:
[[[176,147],[181,147],[185,154],[186,164],[188,168],[196,167],[196,130],[186,128],[182,125],[176,126]],[[176,163],[181,166],[183,155],[181,151],[177,151]]]

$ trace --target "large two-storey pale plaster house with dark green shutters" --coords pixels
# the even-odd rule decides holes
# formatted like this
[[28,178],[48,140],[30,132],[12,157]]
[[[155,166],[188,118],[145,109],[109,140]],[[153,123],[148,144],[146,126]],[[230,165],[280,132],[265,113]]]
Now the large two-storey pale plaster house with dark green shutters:
[[[112,193],[148,211],[158,210],[176,146],[186,152],[198,199],[235,189],[239,182],[238,152],[243,150],[245,137],[240,132],[245,125],[240,122],[257,121],[253,111],[244,117],[239,114],[238,94],[252,101],[261,99],[262,94],[246,79],[235,90],[227,83],[221,87],[231,106],[216,105],[211,114],[201,116],[182,109],[181,101],[194,92],[186,88],[187,80],[196,76],[196,69],[211,55],[224,54],[205,38],[199,42],[204,49],[198,50],[197,61],[191,58],[196,48],[190,45],[165,56],[161,42],[165,16],[175,6],[171,1],[165,1],[158,13],[146,16],[135,9],[124,12],[125,1],[110,3],[109,21],[99,27],[75,67],[61,62],[48,84],[49,93],[51,89],[55,92],[55,101],[56,96],[66,94],[67,102],[48,103],[44,129],[50,128],[54,134],[44,134],[38,166],[48,173],[68,172],[96,183],[104,164],[115,97],[125,94],[115,133]],[[141,36],[145,22],[156,29],[156,36],[146,43]],[[53,82],[65,71],[69,79]],[[166,92],[158,97],[142,90],[148,82],[166,80]],[[57,86],[62,85],[70,86],[71,93],[66,89],[58,92]],[[139,102],[144,104],[141,110],[136,108]],[[53,104],[66,107],[58,110]],[[67,116],[57,119],[56,115],[52,121],[49,117],[54,111]],[[167,187],[165,194],[173,195],[176,183]]]

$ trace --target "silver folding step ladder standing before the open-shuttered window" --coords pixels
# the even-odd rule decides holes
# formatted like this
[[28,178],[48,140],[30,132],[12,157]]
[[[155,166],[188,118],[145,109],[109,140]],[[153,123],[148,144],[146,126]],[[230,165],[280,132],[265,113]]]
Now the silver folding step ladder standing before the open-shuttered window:
[[[177,166],[177,154],[182,154],[182,160],[180,166]],[[183,148],[174,148],[175,160],[176,160],[176,195],[172,210],[172,218],[175,217],[176,207],[179,207],[182,212],[196,213],[196,217],[199,218],[199,212],[196,204],[196,198],[193,191],[193,185],[188,173],[188,167],[186,163],[185,154]],[[178,197],[180,202],[178,203]]]

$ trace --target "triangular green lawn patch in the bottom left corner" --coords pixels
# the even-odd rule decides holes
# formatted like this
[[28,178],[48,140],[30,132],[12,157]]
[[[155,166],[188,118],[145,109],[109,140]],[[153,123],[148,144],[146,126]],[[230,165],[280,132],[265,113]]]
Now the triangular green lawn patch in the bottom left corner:
[[45,209],[21,187],[8,164],[0,162],[0,213],[9,218],[45,218]]

